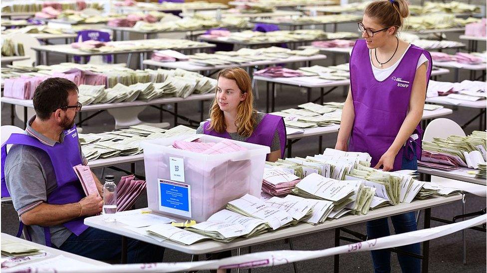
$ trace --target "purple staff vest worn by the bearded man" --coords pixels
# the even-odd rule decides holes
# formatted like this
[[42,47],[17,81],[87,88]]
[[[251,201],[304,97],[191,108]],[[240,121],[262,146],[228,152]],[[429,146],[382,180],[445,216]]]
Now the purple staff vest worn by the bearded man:
[[[53,147],[42,144],[36,138],[25,134],[11,134],[10,137],[1,146],[1,196],[10,196],[5,183],[4,166],[7,157],[6,145],[29,145],[43,150],[49,156],[54,173],[56,174],[57,187],[47,196],[46,203],[63,205],[75,203],[85,196],[81,183],[74,173],[73,166],[81,164],[81,155],[79,154],[79,140],[76,126],[64,131],[64,140],[62,143],[56,143]],[[84,217],[79,217],[63,224],[72,233],[79,236],[88,226],[83,224]],[[23,223],[20,222],[20,236]],[[46,246],[51,245],[49,227],[44,227]]]

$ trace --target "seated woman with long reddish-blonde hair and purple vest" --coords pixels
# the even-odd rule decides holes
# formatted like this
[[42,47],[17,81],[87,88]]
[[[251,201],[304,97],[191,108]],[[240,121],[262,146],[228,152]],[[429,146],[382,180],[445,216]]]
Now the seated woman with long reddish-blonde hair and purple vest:
[[267,161],[274,162],[283,157],[284,121],[282,117],[258,113],[253,108],[250,77],[242,68],[228,68],[218,73],[210,119],[197,129],[197,133],[269,146]]

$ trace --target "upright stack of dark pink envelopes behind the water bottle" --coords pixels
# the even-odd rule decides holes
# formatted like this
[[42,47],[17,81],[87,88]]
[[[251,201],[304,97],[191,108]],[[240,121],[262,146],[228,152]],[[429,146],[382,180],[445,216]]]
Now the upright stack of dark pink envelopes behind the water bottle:
[[135,180],[134,175],[122,177],[117,184],[117,211],[130,210],[145,188],[146,182]]

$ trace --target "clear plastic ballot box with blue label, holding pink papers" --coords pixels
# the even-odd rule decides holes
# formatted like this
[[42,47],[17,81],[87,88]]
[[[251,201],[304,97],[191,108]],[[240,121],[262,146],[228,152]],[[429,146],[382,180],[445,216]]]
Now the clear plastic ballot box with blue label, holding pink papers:
[[[181,219],[206,221],[229,201],[260,196],[267,146],[234,141],[246,151],[205,155],[172,147],[186,136],[143,141],[149,208]],[[192,135],[202,142],[224,138]]]

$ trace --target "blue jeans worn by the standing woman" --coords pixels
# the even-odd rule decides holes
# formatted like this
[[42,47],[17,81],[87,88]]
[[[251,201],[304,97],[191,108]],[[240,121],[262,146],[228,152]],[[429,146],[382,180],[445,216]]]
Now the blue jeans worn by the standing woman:
[[[403,170],[418,170],[418,161],[416,155],[412,160],[406,159],[403,155],[403,163],[401,166]],[[416,217],[414,212],[408,212],[391,216],[392,225],[396,233],[405,233],[417,230]],[[387,218],[372,220],[367,222],[367,236],[369,239],[376,239],[380,237],[389,236],[389,223]],[[402,246],[399,249],[415,254],[421,254],[421,246],[419,243]],[[391,252],[387,250],[373,250],[371,251],[372,261],[374,263],[375,273],[391,272]],[[403,273],[421,272],[421,260],[403,254],[398,254],[397,259]]]

